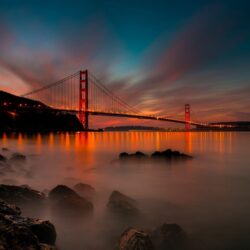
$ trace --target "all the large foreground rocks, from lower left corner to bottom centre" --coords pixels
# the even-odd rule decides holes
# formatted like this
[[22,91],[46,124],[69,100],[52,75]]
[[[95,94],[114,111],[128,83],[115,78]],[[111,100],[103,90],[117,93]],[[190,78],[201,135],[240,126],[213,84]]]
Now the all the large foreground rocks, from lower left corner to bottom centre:
[[[22,217],[16,205],[22,209],[24,204],[39,204],[40,207],[48,206],[53,215],[60,218],[79,219],[93,212],[91,199],[94,194],[95,189],[84,183],[72,188],[58,185],[47,197],[28,186],[0,185],[0,249],[56,249],[55,227],[49,221]],[[120,218],[141,214],[136,200],[116,190],[109,197],[107,210]],[[116,250],[183,250],[186,235],[176,224],[163,224],[150,231],[128,228],[118,241]]]

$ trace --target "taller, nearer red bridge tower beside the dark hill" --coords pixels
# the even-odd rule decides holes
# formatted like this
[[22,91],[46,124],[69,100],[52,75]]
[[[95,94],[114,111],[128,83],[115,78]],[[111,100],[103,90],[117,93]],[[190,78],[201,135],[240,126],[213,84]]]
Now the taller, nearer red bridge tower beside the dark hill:
[[89,129],[89,97],[88,97],[88,70],[80,71],[79,78],[79,120],[83,124],[84,129]]

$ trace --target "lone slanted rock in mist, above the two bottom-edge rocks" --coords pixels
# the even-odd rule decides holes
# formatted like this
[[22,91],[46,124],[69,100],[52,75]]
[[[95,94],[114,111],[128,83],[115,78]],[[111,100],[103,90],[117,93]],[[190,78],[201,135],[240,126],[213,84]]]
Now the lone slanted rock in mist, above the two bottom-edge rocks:
[[140,213],[136,207],[136,201],[119,191],[112,192],[107,207],[110,211],[121,215],[138,215]]

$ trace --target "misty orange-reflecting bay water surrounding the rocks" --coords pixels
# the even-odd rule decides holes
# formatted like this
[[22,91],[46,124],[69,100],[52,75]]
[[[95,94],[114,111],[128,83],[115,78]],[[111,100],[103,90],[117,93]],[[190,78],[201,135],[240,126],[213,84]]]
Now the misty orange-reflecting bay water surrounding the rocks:
[[[1,173],[5,184],[39,191],[83,182],[96,189],[88,218],[42,219],[57,229],[62,250],[112,250],[109,242],[128,226],[150,230],[177,223],[190,249],[250,249],[249,132],[90,132],[2,134],[0,147],[27,155],[25,166]],[[120,152],[171,148],[194,156],[178,162],[116,161]],[[107,213],[113,190],[136,199],[143,217],[120,220]],[[31,214],[24,214],[31,215]]]

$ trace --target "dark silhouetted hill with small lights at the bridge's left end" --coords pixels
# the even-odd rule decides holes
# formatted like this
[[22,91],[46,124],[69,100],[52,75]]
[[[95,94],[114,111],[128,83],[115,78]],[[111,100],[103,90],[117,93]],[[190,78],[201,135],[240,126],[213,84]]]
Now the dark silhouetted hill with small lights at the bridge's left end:
[[81,131],[76,115],[63,114],[45,104],[0,91],[0,131]]

